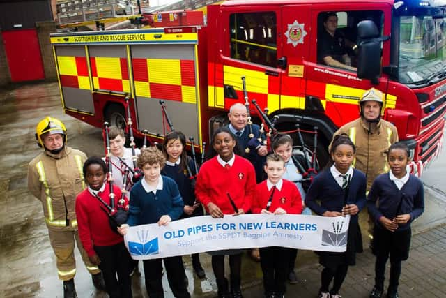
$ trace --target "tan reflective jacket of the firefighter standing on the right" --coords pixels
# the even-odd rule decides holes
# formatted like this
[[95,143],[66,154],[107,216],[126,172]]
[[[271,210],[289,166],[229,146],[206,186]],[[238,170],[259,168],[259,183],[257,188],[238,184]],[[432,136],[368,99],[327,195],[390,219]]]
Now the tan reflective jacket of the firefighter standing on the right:
[[[379,174],[389,172],[387,149],[398,142],[397,128],[388,121],[380,119],[374,129],[369,131],[369,124],[358,118],[341,126],[334,135],[345,133],[356,146],[356,158],[353,167],[367,177],[367,191]],[[331,148],[331,144],[330,144]]]

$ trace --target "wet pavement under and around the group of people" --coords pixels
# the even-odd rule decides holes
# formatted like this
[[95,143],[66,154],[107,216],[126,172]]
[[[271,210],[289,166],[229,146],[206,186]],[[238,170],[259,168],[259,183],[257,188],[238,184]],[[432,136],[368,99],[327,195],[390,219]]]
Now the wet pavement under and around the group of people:
[[[42,149],[35,142],[35,128],[47,115],[61,119],[68,130],[68,144],[88,156],[104,155],[101,131],[63,114],[56,83],[26,84],[0,90],[0,297],[63,297],[40,202],[26,189],[27,164]],[[422,179],[426,186],[426,210],[413,225],[410,258],[403,263],[401,297],[445,297],[446,292],[446,154],[440,155]],[[365,218],[365,216],[362,216]],[[366,237],[364,241],[367,242]],[[368,243],[365,243],[365,247]],[[77,253],[75,284],[79,297],[107,297],[96,291]],[[207,278],[192,272],[184,257],[192,297],[215,297],[210,256],[201,254]],[[300,251],[296,265],[299,282],[289,285],[286,297],[316,297],[321,267],[311,251]],[[142,265],[140,264],[140,269]],[[141,270],[142,271],[142,270]],[[243,258],[244,297],[262,297],[259,263]],[[341,295],[368,297],[373,287],[374,258],[369,249],[358,255]],[[147,297],[144,276],[132,278],[134,297]],[[173,297],[164,275],[166,297]]]

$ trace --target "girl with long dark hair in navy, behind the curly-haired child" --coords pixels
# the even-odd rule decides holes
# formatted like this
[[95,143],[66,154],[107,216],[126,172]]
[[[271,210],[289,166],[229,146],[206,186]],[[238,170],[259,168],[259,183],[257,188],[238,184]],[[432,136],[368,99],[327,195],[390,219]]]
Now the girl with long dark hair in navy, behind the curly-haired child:
[[[171,177],[178,184],[184,202],[183,214],[180,218],[203,215],[203,207],[195,200],[195,189],[192,183],[197,169],[192,158],[186,155],[185,148],[186,137],[180,131],[172,131],[164,137],[162,151],[166,157],[166,165],[161,173]],[[206,277],[198,253],[192,254],[192,268],[199,278]]]

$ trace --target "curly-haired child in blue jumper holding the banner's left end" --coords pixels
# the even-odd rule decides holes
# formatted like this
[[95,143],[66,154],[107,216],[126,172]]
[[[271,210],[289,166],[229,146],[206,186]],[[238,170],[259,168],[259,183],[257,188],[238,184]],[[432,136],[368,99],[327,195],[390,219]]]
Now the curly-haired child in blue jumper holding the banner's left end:
[[[130,191],[128,224],[121,225],[118,231],[126,234],[128,226],[157,223],[168,225],[183,214],[183,199],[175,181],[161,175],[164,155],[156,147],[141,150],[137,165],[144,172],[144,179],[134,184]],[[164,297],[162,288],[162,264],[167,272],[167,280],[175,297],[189,298],[185,285],[185,271],[181,256],[144,260],[144,278],[148,296]]]

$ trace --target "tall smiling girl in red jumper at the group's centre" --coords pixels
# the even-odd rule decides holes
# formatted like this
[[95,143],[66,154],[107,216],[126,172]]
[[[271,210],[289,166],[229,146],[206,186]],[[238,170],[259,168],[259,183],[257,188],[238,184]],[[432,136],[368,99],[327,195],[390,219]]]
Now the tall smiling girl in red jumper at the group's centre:
[[[195,194],[213,218],[225,214],[236,216],[251,209],[252,196],[256,187],[254,167],[245,158],[234,154],[236,137],[228,128],[217,128],[212,137],[211,154],[217,156],[203,163],[197,177]],[[236,152],[237,153],[237,152]],[[241,250],[214,251],[212,269],[217,281],[219,297],[240,298]],[[229,255],[231,269],[231,295],[228,281],[224,278],[224,255]]]

